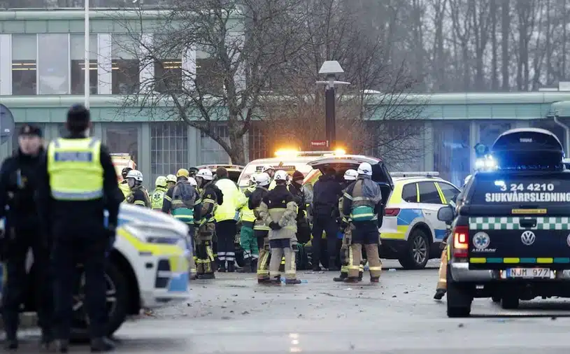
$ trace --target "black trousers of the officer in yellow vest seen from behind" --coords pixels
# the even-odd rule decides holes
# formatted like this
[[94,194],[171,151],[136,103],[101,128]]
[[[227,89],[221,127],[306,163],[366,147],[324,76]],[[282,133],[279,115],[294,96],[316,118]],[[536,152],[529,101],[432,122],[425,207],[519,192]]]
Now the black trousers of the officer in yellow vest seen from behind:
[[55,325],[58,339],[69,339],[73,295],[85,276],[85,306],[92,338],[106,336],[105,236],[56,239],[52,260],[55,278]]

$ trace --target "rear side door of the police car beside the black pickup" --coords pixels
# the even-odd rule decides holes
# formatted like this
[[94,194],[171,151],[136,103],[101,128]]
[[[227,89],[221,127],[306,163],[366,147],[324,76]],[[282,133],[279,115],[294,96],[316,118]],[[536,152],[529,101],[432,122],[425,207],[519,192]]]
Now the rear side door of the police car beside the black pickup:
[[424,218],[432,230],[434,242],[441,242],[446,234],[446,223],[437,219],[437,212],[443,206],[436,183],[431,180],[418,182],[418,202]]

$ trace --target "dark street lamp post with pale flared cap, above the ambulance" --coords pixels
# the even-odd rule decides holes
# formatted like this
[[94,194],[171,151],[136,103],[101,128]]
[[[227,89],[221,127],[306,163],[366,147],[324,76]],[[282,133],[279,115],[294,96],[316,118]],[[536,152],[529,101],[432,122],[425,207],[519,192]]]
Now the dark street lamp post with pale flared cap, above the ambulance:
[[316,83],[326,85],[325,90],[325,133],[329,148],[336,148],[336,118],[335,118],[335,85],[350,85],[345,81],[337,81],[336,76],[344,73],[341,64],[336,60],[327,60],[322,64],[319,75],[325,75],[327,80]]

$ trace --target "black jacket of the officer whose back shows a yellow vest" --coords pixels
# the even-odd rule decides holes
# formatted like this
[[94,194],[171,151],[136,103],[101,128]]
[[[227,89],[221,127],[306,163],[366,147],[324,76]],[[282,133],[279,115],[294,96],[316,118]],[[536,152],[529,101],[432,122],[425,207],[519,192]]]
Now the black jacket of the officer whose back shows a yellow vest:
[[[85,139],[70,135],[66,139]],[[124,196],[117,184],[117,173],[108,149],[101,145],[103,167],[103,198],[87,201],[57,201],[52,198],[47,156],[39,167],[38,211],[45,230],[57,237],[101,236],[104,232],[104,210],[109,213],[109,225],[117,225],[119,205]]]

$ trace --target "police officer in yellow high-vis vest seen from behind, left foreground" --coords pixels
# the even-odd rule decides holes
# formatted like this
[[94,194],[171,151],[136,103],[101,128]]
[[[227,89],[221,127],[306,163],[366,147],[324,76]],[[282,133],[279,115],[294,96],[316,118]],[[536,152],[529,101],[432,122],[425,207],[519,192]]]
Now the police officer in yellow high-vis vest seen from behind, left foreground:
[[[39,170],[38,213],[53,240],[55,337],[66,353],[71,336],[73,294],[78,265],[85,274],[85,310],[92,351],[111,351],[106,339],[106,254],[115,239],[122,193],[111,155],[101,141],[89,137],[90,112],[83,105],[67,113],[69,135],[48,146]],[[104,211],[108,211],[105,226]]]

